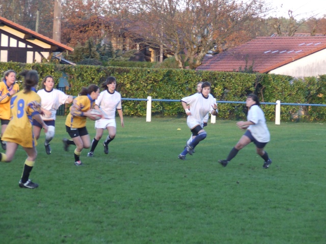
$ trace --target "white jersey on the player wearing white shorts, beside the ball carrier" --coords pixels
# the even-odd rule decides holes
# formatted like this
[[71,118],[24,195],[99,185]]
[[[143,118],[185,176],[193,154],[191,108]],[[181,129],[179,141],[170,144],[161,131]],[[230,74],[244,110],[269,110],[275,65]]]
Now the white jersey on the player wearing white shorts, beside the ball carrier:
[[102,111],[104,115],[103,118],[115,118],[116,109],[122,109],[121,95],[116,90],[114,93],[110,93],[108,90],[103,90],[95,100],[95,104],[99,106]]

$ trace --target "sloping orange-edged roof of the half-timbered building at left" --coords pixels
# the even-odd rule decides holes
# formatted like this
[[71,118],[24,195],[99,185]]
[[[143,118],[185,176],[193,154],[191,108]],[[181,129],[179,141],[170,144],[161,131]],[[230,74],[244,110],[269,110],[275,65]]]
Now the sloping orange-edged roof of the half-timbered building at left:
[[[4,17],[1,17],[0,16],[0,25],[2,24],[5,24],[13,29],[16,29],[17,31],[25,34],[25,39],[29,39],[29,38],[36,38],[42,42],[45,42],[51,46],[57,46],[59,49],[64,49],[64,50],[69,50],[69,51],[73,51],[73,48],[71,47],[68,47],[67,45],[64,45],[60,42],[57,42],[51,38],[48,38],[46,36],[43,36],[37,32],[34,32],[32,31],[31,29],[29,28],[25,28],[24,26],[22,25],[19,25],[19,24],[16,24],[14,22],[12,22],[11,20],[9,19],[6,19]],[[60,50],[55,50],[55,51],[60,51]]]

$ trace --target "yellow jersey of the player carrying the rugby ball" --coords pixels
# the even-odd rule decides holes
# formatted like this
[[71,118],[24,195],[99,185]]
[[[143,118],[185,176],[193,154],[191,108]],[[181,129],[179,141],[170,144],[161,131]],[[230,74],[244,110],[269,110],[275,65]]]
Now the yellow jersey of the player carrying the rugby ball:
[[86,116],[84,112],[93,109],[95,106],[95,100],[90,95],[76,97],[72,101],[70,112],[66,118],[66,126],[70,128],[83,128],[86,126]]

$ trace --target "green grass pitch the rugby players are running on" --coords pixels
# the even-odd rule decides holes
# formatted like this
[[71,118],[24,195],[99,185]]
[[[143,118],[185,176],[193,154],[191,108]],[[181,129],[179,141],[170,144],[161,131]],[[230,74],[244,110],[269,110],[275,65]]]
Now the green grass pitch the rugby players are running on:
[[[43,132],[39,139],[31,173],[39,188],[18,187],[21,147],[0,164],[0,243],[326,243],[325,124],[269,123],[269,169],[254,144],[223,168],[217,161],[243,134],[235,121],[208,124],[181,161],[185,118],[126,117],[110,153],[103,137],[76,167],[74,147],[63,151],[64,119],[51,155]],[[93,128],[88,121],[91,138]]]

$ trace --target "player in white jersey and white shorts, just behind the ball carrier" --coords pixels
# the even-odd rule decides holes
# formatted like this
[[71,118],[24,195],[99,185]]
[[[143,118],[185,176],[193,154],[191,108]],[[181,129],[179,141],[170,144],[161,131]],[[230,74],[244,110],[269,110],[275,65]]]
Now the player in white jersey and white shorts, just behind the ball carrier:
[[116,91],[117,80],[113,76],[109,76],[102,84],[103,92],[100,93],[95,101],[94,108],[100,110],[103,114],[103,118],[95,121],[96,135],[92,141],[91,150],[88,153],[88,157],[93,157],[94,150],[98,144],[98,141],[102,138],[103,131],[106,128],[108,136],[103,142],[104,154],[108,154],[108,143],[110,143],[116,137],[116,110],[120,117],[121,126],[124,127],[121,95]]

